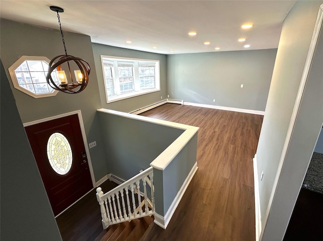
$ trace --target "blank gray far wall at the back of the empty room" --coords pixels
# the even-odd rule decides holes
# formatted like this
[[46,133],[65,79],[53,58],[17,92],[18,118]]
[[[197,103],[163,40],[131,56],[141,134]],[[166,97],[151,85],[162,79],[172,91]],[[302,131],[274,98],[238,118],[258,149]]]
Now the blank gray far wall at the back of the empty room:
[[264,111],[276,52],[264,49],[168,55],[168,94],[171,99],[187,102]]

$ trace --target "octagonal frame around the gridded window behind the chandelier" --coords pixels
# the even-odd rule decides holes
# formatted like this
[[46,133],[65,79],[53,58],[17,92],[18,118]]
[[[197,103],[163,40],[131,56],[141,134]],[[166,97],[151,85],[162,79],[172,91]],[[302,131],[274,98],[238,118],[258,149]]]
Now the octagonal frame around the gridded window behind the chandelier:
[[[43,98],[43,97],[49,97],[49,96],[55,96],[57,95],[57,93],[59,92],[58,90],[54,90],[51,93],[44,93],[44,94],[35,94],[31,91],[26,90],[25,88],[21,87],[18,83],[16,74],[15,74],[15,70],[25,61],[45,61],[46,63],[49,64],[50,60],[47,57],[44,56],[27,56],[27,55],[23,55],[20,58],[18,58],[18,60],[9,68],[9,74],[11,77],[11,81],[14,85],[14,87],[17,90],[20,90],[21,92],[24,92],[25,94],[32,96],[34,98]],[[51,87],[49,87],[51,88]]]

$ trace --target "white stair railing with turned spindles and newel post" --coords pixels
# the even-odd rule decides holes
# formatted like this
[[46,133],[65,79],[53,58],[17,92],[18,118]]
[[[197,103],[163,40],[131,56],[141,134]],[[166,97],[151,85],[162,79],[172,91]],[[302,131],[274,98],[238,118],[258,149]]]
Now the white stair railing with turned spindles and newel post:
[[[147,192],[146,184],[150,187],[150,193]],[[97,188],[96,199],[100,205],[103,228],[105,229],[111,224],[154,214],[155,204],[153,194],[152,167],[140,172],[105,194],[101,188]]]

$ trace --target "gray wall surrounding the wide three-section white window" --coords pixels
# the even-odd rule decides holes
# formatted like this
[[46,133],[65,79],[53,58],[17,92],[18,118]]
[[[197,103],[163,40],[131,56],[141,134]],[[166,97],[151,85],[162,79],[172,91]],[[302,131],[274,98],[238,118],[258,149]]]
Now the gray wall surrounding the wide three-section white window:
[[[99,85],[99,91],[100,91],[99,93],[100,93],[102,108],[113,109],[113,110],[118,110],[123,112],[131,112],[133,110],[136,110],[160,101],[161,96],[163,96],[163,99],[167,98],[166,55],[143,52],[138,50],[131,50],[126,48],[118,48],[118,47],[107,46],[107,45],[98,44],[98,43],[92,43],[92,47],[93,47],[96,75],[97,75],[97,80]],[[157,61],[159,60],[160,91],[148,93],[148,94],[144,94],[144,95],[140,95],[140,96],[124,99],[124,100],[118,100],[107,104],[105,91],[104,91],[104,79],[103,79],[103,71],[102,71],[102,65],[101,65],[101,55],[127,57],[127,58],[153,59]]]

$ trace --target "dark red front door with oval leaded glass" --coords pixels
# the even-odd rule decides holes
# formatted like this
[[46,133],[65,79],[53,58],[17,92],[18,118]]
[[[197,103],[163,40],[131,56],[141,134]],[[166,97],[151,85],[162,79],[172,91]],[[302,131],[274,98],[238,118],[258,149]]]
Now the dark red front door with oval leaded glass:
[[78,115],[25,130],[56,216],[93,188]]

